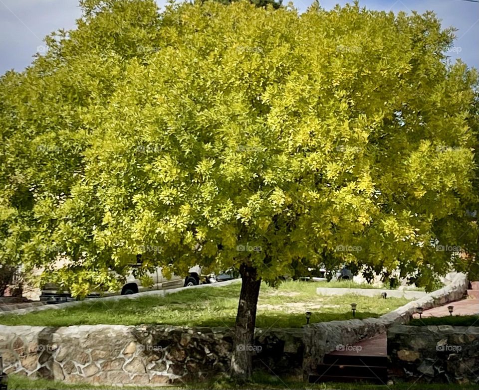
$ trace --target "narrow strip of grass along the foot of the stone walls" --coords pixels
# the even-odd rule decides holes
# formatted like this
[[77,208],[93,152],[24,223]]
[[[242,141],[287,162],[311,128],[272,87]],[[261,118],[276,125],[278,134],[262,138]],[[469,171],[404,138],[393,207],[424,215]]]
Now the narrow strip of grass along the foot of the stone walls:
[[[23,376],[8,376],[8,390],[140,390],[145,387],[135,386],[93,386],[86,384],[68,385],[57,381],[48,381],[44,379],[30,380]],[[204,383],[195,383],[182,387],[148,387],[148,389],[156,390],[238,390],[238,389],[255,389],[255,390],[282,390],[282,389],[301,389],[301,390],[475,390],[477,385],[458,385],[458,384],[420,384],[420,383],[403,383],[395,385],[371,385],[371,384],[346,384],[346,383],[327,383],[327,384],[308,384],[298,380],[279,379],[267,375],[254,375],[253,382],[247,385],[236,385],[226,378],[212,380]]]

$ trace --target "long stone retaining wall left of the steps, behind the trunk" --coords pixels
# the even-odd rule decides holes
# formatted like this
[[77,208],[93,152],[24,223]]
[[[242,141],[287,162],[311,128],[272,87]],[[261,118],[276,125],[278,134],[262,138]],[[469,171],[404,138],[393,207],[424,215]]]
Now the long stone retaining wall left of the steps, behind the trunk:
[[[302,329],[257,329],[254,367],[300,375]],[[227,372],[228,328],[94,325],[61,328],[0,326],[6,374],[65,383],[160,385]]]

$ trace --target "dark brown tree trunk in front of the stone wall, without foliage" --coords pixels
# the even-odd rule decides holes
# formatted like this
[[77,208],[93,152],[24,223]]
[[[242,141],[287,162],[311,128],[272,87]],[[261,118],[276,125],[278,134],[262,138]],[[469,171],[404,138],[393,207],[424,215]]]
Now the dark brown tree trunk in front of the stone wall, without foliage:
[[231,376],[240,382],[251,378],[252,355],[254,346],[254,324],[258,303],[261,278],[257,277],[256,268],[241,264],[241,292],[238,314],[236,316],[235,343],[231,359]]

